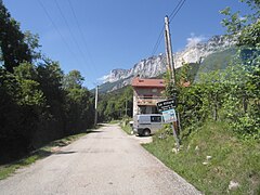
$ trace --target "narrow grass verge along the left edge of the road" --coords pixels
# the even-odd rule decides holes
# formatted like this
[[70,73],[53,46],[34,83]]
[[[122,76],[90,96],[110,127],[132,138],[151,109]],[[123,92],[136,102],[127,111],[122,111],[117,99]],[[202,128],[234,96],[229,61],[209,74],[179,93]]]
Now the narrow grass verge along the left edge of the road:
[[63,138],[61,140],[55,140],[55,141],[49,143],[48,145],[46,145],[35,152],[31,152],[25,158],[22,158],[20,160],[11,162],[11,164],[0,166],[0,180],[6,179],[9,176],[13,174],[17,169],[29,166],[39,159],[42,159],[44,157],[48,157],[48,156],[54,154],[61,147],[69,145],[70,143],[77,141],[79,138],[81,138],[90,132],[91,132],[91,130],[88,130],[88,131],[79,133],[79,134],[74,134],[74,135]]

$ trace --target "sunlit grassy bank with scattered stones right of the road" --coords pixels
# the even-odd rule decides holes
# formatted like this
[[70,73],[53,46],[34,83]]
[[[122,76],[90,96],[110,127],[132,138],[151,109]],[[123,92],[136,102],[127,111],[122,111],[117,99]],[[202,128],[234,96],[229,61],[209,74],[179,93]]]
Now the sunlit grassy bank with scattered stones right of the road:
[[[182,140],[161,131],[143,146],[205,194],[260,194],[260,142],[242,141],[221,122],[208,122]],[[207,159],[208,156],[208,159]],[[238,187],[229,190],[230,182]]]

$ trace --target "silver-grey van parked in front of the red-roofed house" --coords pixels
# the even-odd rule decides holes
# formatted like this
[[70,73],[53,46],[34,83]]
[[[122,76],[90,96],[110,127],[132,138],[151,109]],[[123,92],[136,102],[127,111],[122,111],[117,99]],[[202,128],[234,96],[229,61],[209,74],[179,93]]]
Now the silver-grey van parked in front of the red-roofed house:
[[136,115],[133,118],[133,133],[148,136],[162,128],[164,117],[160,114]]

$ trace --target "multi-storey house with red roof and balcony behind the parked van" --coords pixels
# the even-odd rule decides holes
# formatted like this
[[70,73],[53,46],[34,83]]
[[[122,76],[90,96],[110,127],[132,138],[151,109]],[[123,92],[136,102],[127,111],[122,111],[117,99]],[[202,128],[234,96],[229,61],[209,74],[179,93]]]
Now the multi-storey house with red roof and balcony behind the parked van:
[[133,117],[138,114],[156,114],[157,102],[164,101],[164,79],[142,79],[135,77],[133,87]]

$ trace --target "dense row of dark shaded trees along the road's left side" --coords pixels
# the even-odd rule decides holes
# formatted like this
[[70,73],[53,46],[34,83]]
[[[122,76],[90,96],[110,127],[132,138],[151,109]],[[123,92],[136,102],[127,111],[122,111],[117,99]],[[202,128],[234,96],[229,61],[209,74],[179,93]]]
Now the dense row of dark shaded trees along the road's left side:
[[0,1],[0,162],[93,125],[93,95],[78,70],[42,55]]

